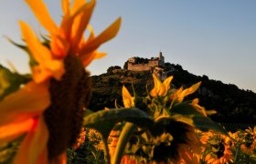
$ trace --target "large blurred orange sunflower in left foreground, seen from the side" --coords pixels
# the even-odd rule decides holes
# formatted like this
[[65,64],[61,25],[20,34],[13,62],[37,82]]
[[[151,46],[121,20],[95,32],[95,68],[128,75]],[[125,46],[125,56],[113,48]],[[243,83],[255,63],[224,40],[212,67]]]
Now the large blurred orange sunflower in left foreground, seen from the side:
[[[116,36],[121,18],[95,36],[88,25],[95,0],[74,0],[72,5],[62,0],[60,26],[42,0],[26,2],[48,36],[41,41],[25,22],[19,22],[33,79],[1,99],[0,144],[26,135],[14,163],[61,163],[80,134],[82,108],[90,99],[91,81],[84,67],[105,56],[97,48]],[[87,39],[86,28],[91,32]]]

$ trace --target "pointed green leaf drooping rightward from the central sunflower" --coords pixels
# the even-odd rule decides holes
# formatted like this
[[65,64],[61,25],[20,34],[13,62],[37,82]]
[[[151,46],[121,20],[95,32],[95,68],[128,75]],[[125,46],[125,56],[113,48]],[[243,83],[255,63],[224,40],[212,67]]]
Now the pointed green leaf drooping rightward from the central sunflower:
[[212,121],[210,118],[205,117],[203,114],[197,111],[187,103],[178,103],[171,108],[172,118],[177,121],[187,123],[190,126],[199,128],[202,131],[208,131],[212,129],[222,134],[228,135],[228,132],[222,128],[218,123]]

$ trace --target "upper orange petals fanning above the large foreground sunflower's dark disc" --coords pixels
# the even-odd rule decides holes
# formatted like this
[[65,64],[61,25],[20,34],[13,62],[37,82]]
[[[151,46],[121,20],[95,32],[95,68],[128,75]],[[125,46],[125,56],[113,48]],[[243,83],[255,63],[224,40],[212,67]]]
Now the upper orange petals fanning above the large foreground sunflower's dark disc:
[[[40,43],[26,23],[20,21],[23,38],[31,57],[37,62],[37,66],[32,67],[33,77],[37,82],[48,77],[60,79],[64,74],[63,60],[66,56],[78,57],[83,67],[87,67],[94,58],[105,56],[96,49],[116,36],[121,24],[121,18],[118,18],[101,35],[95,36],[91,26],[88,25],[95,0],[91,0],[90,3],[85,3],[85,0],[75,0],[72,6],[69,0],[62,0],[63,19],[60,26],[54,23],[42,0],[37,2],[26,0],[26,2],[41,25],[48,31],[50,38],[48,48]],[[87,40],[83,36],[86,28],[91,31]]]

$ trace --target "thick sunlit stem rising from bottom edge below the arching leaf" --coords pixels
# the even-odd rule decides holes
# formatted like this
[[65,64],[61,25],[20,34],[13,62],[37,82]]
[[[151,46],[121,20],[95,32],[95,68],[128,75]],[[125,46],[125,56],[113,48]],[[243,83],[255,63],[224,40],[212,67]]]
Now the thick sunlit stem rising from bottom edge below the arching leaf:
[[123,151],[129,139],[132,137],[136,126],[133,123],[127,122],[118,138],[114,154],[112,156],[112,164],[120,164],[123,157]]

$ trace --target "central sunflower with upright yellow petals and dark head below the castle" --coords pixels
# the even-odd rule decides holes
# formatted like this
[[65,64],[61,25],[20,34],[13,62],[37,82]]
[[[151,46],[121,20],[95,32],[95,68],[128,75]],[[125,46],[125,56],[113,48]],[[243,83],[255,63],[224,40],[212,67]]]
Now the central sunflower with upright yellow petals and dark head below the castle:
[[[155,87],[147,97],[141,97],[142,100],[140,101],[144,103],[142,109],[154,119],[155,125],[150,130],[137,129],[135,134],[140,135],[133,135],[126,154],[124,153],[123,163],[125,161],[132,162],[134,159],[138,163],[141,161],[145,163],[199,163],[203,148],[194,132],[195,128],[172,118],[172,110],[166,107],[169,105],[167,101],[170,99],[170,95],[175,94],[170,89],[173,77],[167,77],[164,82],[161,82],[153,74],[153,79]],[[189,89],[181,90],[176,96],[179,97],[183,92],[181,97],[186,97],[195,92],[198,85],[199,83]],[[134,97],[131,96],[126,87],[123,87],[123,105],[125,108],[137,107],[138,100],[136,94],[133,95]]]

